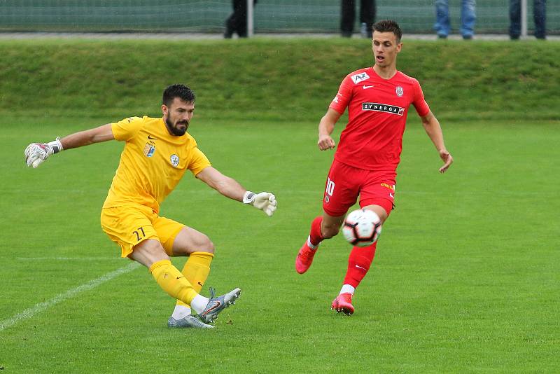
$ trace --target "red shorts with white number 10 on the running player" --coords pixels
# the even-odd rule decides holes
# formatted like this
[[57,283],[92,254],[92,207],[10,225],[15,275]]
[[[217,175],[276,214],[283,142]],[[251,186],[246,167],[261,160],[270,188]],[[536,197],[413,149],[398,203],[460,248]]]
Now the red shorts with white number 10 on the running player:
[[395,207],[396,175],[358,169],[334,160],[325,183],[323,210],[330,216],[342,216],[360,196],[360,207],[380,205],[388,215]]

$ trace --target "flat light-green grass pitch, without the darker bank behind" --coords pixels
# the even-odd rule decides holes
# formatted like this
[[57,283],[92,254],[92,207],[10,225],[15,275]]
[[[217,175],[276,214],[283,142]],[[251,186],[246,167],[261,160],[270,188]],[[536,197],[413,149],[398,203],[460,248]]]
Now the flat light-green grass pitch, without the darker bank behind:
[[[186,176],[164,203],[163,215],[216,244],[207,284],[243,289],[214,331],[168,330],[174,303],[138,268],[1,330],[0,370],[558,372],[559,123],[448,121],[456,162],[441,175],[411,116],[397,209],[356,313],[342,317],[329,310],[350,250],[342,237],[321,245],[305,275],[293,269],[332,158],[316,150],[316,122],[193,121],[215,167],[279,201],[268,219]],[[30,141],[99,120],[15,123],[0,120],[0,324],[129,263],[99,228],[122,144],[65,151],[28,169]]]

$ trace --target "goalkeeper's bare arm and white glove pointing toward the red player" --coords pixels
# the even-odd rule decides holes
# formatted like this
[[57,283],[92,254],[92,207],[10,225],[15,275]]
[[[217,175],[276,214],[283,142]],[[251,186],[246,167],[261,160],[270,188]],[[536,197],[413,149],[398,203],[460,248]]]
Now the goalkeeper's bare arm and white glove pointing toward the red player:
[[253,193],[246,191],[235,179],[218,172],[214,167],[205,167],[197,174],[197,178],[224,195],[226,198],[252,205],[262,210],[267,216],[276,211],[276,197],[269,192]]

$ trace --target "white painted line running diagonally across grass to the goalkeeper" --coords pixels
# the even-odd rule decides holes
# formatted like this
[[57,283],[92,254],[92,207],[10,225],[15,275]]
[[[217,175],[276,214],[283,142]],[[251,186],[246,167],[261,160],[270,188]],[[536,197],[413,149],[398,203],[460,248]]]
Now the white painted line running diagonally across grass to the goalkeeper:
[[64,293],[60,293],[59,295],[55,296],[50,300],[43,301],[43,303],[38,303],[37,305],[34,305],[33,307],[30,307],[29,309],[26,309],[19,314],[15,314],[15,316],[13,316],[10,319],[6,319],[5,321],[0,321],[0,331],[15,325],[16,323],[18,323],[18,321],[21,321],[22,319],[33,317],[35,314],[41,313],[43,312],[43,310],[52,307],[52,305],[56,305],[68,298],[73,298],[80,292],[89,291],[90,289],[94,289],[100,284],[103,284],[113,278],[116,278],[121,274],[125,274],[126,272],[131,272],[132,270],[139,268],[139,266],[140,266],[139,263],[131,263],[125,266],[124,268],[117,269],[113,272],[108,272],[106,275],[103,275],[102,277],[99,277],[97,279],[93,279],[92,281],[82,284],[81,286],[78,286],[75,289],[71,289]]

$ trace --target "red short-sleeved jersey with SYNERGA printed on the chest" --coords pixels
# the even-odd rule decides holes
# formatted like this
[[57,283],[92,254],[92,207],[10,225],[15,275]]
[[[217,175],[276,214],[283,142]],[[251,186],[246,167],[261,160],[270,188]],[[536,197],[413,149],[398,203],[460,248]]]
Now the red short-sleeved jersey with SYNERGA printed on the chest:
[[400,71],[391,79],[381,78],[372,67],[348,74],[329,106],[340,114],[348,106],[348,124],[340,134],[335,160],[395,172],[410,104],[419,116],[430,111],[418,81]]

